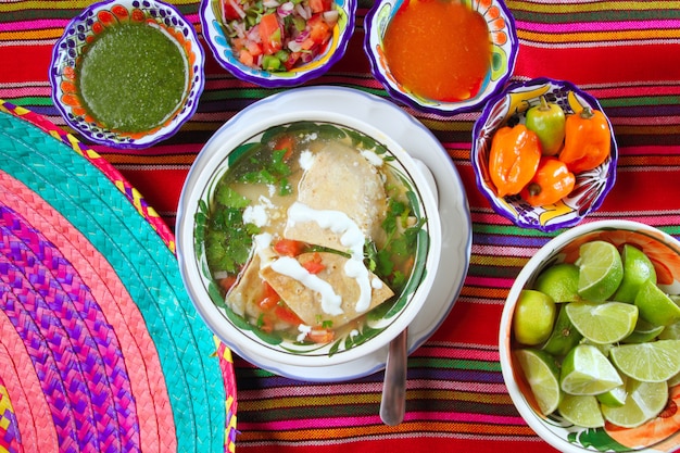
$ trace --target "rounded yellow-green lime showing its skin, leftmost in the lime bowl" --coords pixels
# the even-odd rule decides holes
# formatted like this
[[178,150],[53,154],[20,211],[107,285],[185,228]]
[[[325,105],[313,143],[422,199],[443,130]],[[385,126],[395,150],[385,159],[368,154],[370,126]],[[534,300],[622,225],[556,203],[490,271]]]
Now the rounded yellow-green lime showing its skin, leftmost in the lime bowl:
[[534,345],[550,337],[555,323],[555,302],[540,291],[525,289],[519,293],[513,316],[515,340]]

